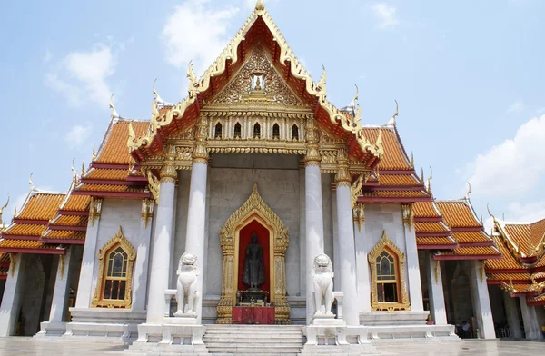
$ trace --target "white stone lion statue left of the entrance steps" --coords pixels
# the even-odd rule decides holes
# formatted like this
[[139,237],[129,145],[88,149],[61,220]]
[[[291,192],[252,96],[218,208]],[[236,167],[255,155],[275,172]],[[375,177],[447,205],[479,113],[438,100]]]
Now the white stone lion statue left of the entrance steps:
[[178,282],[176,285],[176,302],[178,311],[174,315],[189,314],[197,315],[195,312],[199,301],[197,291],[197,255],[193,252],[185,252],[178,263]]

